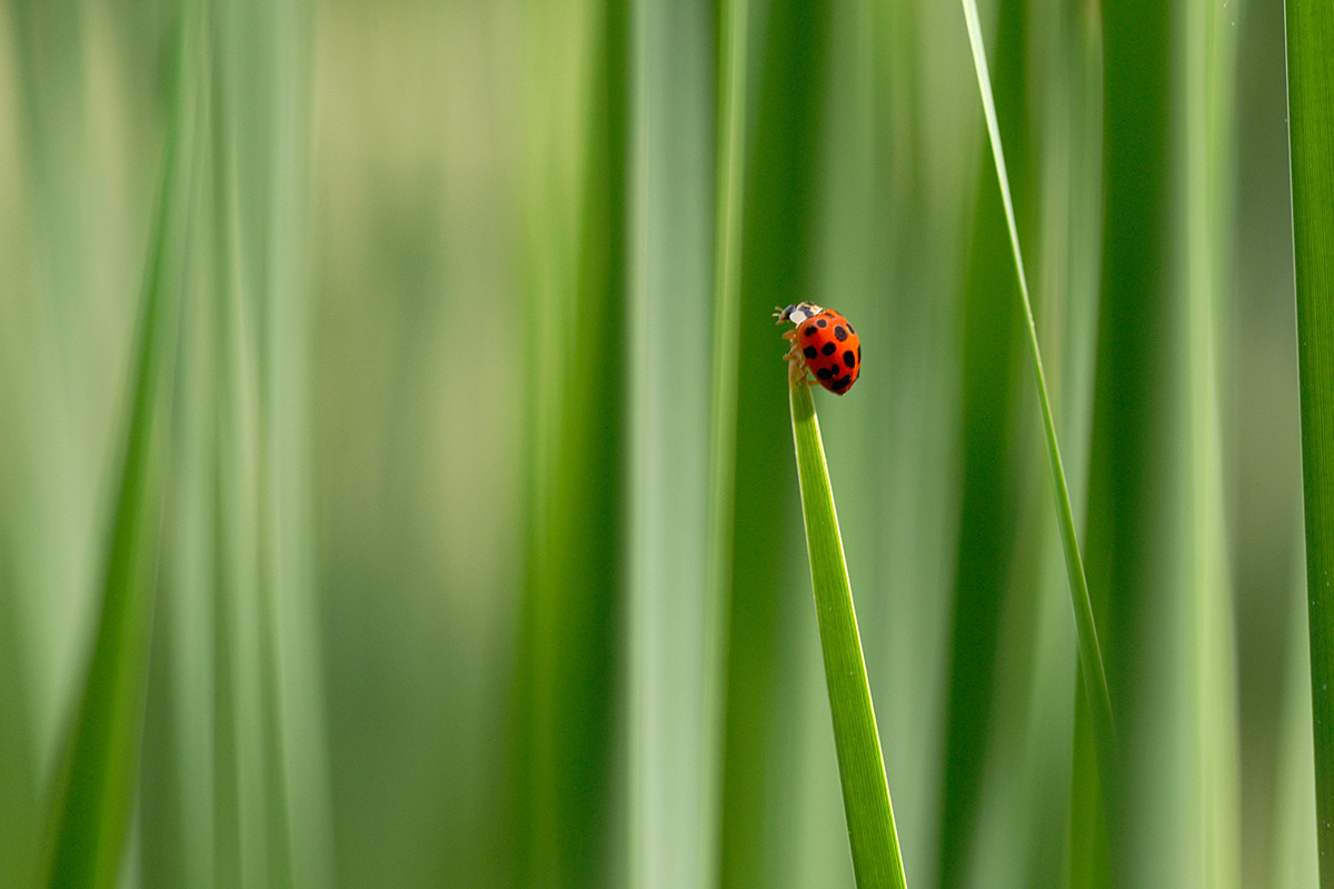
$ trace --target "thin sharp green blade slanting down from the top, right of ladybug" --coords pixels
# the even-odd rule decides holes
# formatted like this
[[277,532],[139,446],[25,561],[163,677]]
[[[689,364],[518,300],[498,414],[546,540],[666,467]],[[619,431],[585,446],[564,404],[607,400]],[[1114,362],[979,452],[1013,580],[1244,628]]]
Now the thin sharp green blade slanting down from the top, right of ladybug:
[[1042,425],[1047,443],[1047,460],[1051,466],[1051,482],[1057,498],[1057,521],[1061,529],[1061,544],[1065,550],[1066,574],[1070,582],[1070,600],[1074,606],[1075,633],[1079,640],[1079,665],[1085,681],[1094,736],[1098,742],[1098,764],[1105,786],[1114,786],[1111,768],[1117,757],[1115,722],[1111,716],[1111,698],[1107,694],[1107,676],[1103,669],[1102,650],[1098,644],[1098,629],[1094,626],[1093,605],[1089,600],[1089,582],[1085,577],[1083,560],[1079,556],[1079,540],[1075,536],[1074,514],[1070,509],[1070,489],[1066,485],[1065,468],[1061,464],[1061,445],[1057,441],[1057,427],[1051,416],[1051,401],[1047,396],[1047,381],[1042,371],[1042,352],[1038,347],[1038,328],[1033,320],[1033,304],[1029,299],[1029,281],[1023,271],[1023,253],[1019,249],[1019,229],[1014,219],[1014,201],[1010,197],[1010,180],[1006,175],[1005,152],[1000,147],[1000,128],[996,123],[995,101],[991,97],[991,77],[987,73],[986,47],[982,43],[982,25],[978,19],[975,0],[962,0],[963,16],[968,27],[968,43],[972,47],[972,61],[978,72],[978,91],[982,95],[982,108],[986,115],[987,133],[991,137],[991,156],[996,165],[996,180],[1000,185],[1000,200],[1005,204],[1006,223],[1010,227],[1010,247],[1014,251],[1015,272],[1019,276],[1019,296],[1023,299],[1025,320],[1027,321],[1029,352],[1033,357],[1033,372],[1038,385],[1038,401],[1042,407]]

